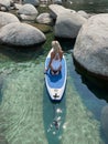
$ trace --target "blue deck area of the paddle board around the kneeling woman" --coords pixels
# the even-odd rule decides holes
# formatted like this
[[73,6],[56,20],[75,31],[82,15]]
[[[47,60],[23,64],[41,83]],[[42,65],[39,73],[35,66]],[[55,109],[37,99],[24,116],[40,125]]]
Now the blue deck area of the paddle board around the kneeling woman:
[[[45,65],[47,65],[50,62],[50,58],[46,59]],[[50,88],[52,89],[60,89],[64,84],[65,80],[65,60],[62,59],[62,71],[58,75],[52,75],[50,70],[47,71],[46,74],[47,83]]]

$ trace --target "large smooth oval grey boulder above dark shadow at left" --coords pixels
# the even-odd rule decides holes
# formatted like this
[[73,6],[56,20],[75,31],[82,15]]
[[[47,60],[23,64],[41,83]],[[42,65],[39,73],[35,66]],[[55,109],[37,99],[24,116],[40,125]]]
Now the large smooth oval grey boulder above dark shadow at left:
[[45,40],[43,32],[26,23],[14,22],[2,27],[0,30],[0,44],[31,47]]

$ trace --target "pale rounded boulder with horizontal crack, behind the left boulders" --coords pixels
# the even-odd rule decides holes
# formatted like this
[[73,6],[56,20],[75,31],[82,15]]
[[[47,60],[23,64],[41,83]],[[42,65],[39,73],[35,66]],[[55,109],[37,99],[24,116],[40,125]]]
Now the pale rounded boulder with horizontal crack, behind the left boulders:
[[23,4],[19,10],[18,14],[21,20],[35,20],[37,16],[37,10],[32,4]]

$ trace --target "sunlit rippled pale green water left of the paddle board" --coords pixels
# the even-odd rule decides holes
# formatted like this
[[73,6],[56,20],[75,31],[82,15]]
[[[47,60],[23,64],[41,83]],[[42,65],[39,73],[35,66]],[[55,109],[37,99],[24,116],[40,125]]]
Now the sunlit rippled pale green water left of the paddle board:
[[3,81],[0,132],[9,144],[47,144],[42,117],[44,65],[40,64],[26,63]]

